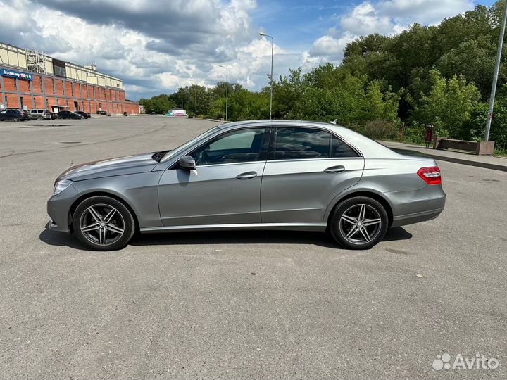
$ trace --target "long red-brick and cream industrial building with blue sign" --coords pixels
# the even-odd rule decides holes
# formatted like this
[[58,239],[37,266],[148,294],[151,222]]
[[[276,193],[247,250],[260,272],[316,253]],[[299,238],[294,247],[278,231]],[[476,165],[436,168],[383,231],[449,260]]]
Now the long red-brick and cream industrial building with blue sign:
[[137,114],[125,101],[123,81],[34,50],[0,43],[0,108],[46,108],[52,112]]

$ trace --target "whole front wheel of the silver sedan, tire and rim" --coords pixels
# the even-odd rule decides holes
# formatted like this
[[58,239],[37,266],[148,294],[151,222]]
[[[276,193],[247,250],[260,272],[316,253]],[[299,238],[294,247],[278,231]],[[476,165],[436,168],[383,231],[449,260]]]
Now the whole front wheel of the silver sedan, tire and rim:
[[75,209],[73,229],[77,240],[87,248],[115,251],[130,241],[135,222],[130,210],[120,201],[108,196],[92,196]]

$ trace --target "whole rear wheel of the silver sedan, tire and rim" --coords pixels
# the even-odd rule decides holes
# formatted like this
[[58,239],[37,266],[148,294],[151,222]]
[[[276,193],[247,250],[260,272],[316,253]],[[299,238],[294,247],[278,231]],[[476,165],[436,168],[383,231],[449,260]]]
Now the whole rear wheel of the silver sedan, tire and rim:
[[367,196],[356,196],[334,208],[330,232],[345,248],[370,249],[384,239],[388,224],[389,217],[381,203]]

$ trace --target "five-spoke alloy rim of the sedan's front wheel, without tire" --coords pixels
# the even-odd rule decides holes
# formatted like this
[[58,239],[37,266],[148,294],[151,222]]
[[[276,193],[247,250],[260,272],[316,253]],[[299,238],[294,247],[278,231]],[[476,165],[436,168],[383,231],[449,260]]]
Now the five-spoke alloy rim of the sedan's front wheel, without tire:
[[110,246],[121,239],[125,232],[125,220],[111,205],[90,205],[80,217],[83,236],[99,246]]

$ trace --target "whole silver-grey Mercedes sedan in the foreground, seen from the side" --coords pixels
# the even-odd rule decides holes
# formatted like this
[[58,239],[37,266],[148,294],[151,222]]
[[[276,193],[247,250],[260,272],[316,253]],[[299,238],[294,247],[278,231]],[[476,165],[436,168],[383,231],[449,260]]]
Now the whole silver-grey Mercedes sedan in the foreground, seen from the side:
[[47,210],[49,229],[99,251],[123,248],[137,230],[223,229],[328,231],[365,249],[389,227],[437,217],[445,199],[432,158],[337,125],[265,120],[219,125],[173,151],[71,167]]

